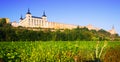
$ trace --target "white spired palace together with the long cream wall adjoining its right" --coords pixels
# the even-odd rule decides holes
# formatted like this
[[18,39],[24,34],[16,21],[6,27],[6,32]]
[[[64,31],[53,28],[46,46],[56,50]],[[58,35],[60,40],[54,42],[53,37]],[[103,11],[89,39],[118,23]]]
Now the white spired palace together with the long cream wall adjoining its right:
[[77,25],[72,24],[63,24],[63,23],[56,23],[56,22],[48,22],[47,16],[45,12],[43,13],[42,17],[32,16],[30,10],[26,14],[25,18],[20,18],[20,22],[13,24],[13,26],[22,26],[22,27],[40,27],[40,28],[55,28],[55,29],[73,29],[76,28]]

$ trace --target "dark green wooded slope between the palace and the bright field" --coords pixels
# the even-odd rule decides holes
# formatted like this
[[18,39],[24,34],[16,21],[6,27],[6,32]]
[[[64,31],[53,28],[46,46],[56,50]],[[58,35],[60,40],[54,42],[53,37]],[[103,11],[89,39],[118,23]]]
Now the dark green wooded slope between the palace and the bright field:
[[[33,28],[35,29],[35,28]],[[118,41],[118,34],[111,35],[109,32],[101,29],[99,31],[88,30],[87,28],[75,28],[72,30],[56,30],[24,27],[12,27],[0,20],[0,41]]]

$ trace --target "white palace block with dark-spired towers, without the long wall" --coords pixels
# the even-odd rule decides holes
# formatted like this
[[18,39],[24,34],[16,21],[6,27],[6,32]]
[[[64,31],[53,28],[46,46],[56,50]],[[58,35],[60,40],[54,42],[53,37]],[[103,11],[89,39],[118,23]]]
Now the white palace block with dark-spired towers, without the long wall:
[[25,18],[20,18],[19,26],[22,27],[48,27],[48,22],[47,22],[47,17],[45,16],[45,13],[43,14],[42,17],[36,17],[32,16],[31,13],[27,12]]

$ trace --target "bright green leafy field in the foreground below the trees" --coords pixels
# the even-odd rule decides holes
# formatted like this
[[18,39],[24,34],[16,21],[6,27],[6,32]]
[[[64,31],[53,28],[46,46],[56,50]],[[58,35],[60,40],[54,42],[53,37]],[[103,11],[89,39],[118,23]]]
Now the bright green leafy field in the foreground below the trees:
[[111,47],[120,46],[120,42],[93,41],[35,41],[0,42],[0,58],[6,62],[87,62],[94,61],[96,53],[102,54]]

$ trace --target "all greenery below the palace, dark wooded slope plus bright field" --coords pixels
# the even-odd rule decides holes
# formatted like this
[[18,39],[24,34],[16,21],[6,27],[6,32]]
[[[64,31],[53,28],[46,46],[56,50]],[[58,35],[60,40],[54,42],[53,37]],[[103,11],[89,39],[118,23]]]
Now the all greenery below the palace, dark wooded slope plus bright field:
[[0,62],[118,62],[120,58],[116,47],[120,42],[115,42],[120,36],[103,29],[12,27],[1,19],[0,41]]

